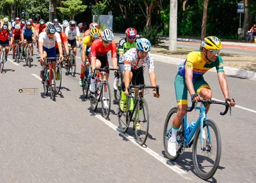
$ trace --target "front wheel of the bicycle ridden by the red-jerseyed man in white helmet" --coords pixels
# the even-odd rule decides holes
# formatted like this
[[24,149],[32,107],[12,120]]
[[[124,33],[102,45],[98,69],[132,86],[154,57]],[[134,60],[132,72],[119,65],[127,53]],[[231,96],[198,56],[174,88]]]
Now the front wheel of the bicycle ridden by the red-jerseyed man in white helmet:
[[[105,91],[105,86],[107,91]],[[101,110],[102,110],[102,117],[105,119],[108,119],[109,112],[111,110],[111,91],[109,82],[107,80],[104,81],[104,84],[102,85],[102,95],[101,95]]]

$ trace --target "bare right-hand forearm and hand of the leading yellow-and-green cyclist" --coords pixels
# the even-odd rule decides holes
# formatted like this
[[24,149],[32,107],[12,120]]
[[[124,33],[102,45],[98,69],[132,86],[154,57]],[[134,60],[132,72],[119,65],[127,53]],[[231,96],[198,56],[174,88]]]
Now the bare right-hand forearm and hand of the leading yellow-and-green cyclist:
[[234,99],[232,98],[230,99],[230,96],[229,96],[228,83],[225,77],[225,73],[224,72],[218,73],[218,79],[219,79],[221,91],[225,97],[225,101],[231,106],[235,106],[236,102],[234,101]]

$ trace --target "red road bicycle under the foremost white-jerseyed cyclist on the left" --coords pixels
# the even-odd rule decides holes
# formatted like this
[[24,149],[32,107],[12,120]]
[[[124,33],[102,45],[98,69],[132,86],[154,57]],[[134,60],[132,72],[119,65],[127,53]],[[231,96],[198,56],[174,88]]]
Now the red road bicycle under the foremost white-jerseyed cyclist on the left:
[[55,101],[57,87],[56,87],[56,76],[54,69],[52,67],[52,60],[59,59],[58,57],[45,57],[45,69],[44,69],[44,80],[42,84],[44,85],[45,95],[48,94],[49,88],[51,91],[51,99]]

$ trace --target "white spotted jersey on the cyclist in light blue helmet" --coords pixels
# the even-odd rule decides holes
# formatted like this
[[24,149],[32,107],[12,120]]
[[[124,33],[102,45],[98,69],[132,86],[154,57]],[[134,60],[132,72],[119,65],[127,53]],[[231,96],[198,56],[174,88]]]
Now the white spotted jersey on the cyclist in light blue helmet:
[[129,49],[124,55],[124,70],[137,70],[145,63],[148,66],[149,72],[154,71],[154,58],[150,52],[148,52],[144,59],[138,59],[138,50],[136,48]]

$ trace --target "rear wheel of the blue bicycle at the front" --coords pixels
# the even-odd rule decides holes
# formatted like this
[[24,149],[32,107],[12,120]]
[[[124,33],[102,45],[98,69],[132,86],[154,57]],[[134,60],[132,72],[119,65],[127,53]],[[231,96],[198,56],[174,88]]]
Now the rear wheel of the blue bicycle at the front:
[[182,121],[179,130],[177,131],[177,142],[178,145],[176,145],[176,149],[177,149],[177,154],[175,157],[171,156],[168,153],[168,141],[169,138],[172,136],[172,122],[173,119],[175,117],[175,115],[177,114],[177,107],[174,107],[170,110],[170,112],[168,113],[165,122],[164,122],[164,131],[163,131],[163,143],[164,143],[164,151],[165,151],[165,155],[168,159],[174,161],[175,159],[177,159],[180,156],[180,142],[182,141],[182,139],[184,138],[184,133],[183,133],[183,126],[184,126],[184,121]]

